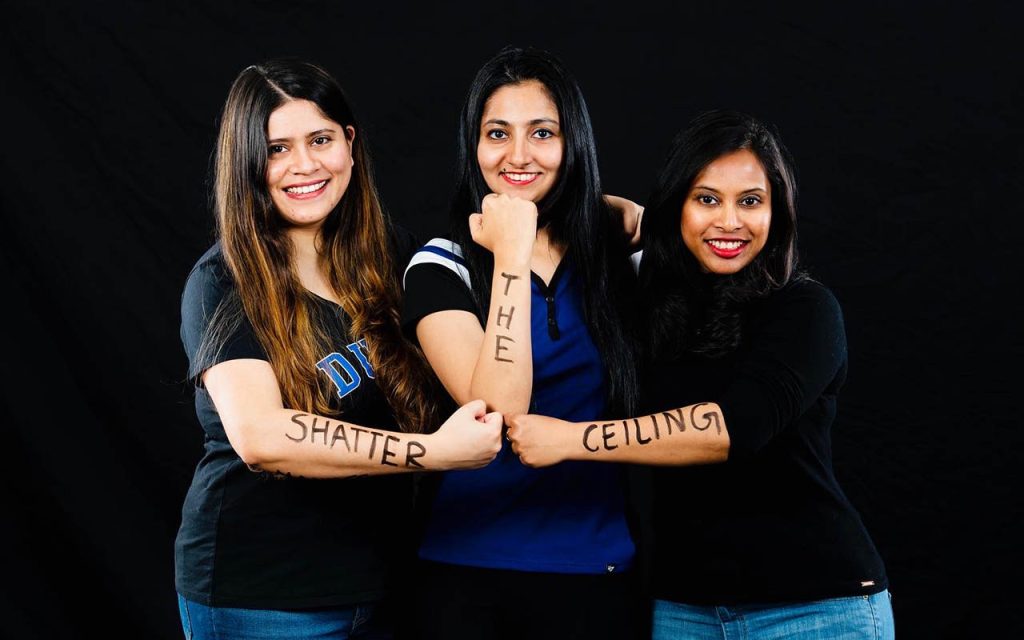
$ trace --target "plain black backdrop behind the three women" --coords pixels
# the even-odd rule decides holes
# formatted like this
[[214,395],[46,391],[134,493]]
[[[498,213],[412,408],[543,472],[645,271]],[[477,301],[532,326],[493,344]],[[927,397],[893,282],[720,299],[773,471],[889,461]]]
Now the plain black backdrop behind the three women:
[[444,224],[462,96],[508,43],[578,76],[609,193],[643,201],[701,110],[777,124],[805,264],[846,311],[838,473],[886,559],[900,635],[1022,629],[1013,16],[385,4],[3,3],[0,634],[179,637],[172,541],[202,440],[178,300],[212,238],[234,75],[282,54],[327,67],[392,215],[426,239]]

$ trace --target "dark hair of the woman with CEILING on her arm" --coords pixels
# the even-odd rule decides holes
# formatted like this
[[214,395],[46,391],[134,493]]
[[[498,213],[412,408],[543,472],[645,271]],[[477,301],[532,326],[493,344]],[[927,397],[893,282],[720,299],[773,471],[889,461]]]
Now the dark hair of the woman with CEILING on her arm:
[[[706,273],[680,233],[683,204],[709,164],[738,150],[757,156],[771,185],[768,240],[740,271]],[[646,357],[719,357],[735,350],[748,305],[805,278],[797,270],[797,179],[774,128],[733,111],[707,112],[690,122],[673,140],[647,201],[643,245],[639,290],[647,310]]]

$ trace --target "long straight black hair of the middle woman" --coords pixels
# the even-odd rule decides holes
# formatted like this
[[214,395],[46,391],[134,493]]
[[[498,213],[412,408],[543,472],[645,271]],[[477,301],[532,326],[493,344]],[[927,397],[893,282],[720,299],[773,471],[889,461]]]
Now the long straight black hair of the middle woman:
[[494,255],[473,242],[467,224],[468,216],[480,210],[484,196],[490,193],[476,158],[480,120],[495,91],[530,80],[543,84],[555,103],[565,143],[558,179],[538,203],[538,225],[546,227],[551,240],[565,247],[563,259],[572,260],[579,267],[584,315],[610,374],[608,410],[632,415],[637,404],[637,376],[630,335],[634,276],[627,257],[627,240],[621,221],[602,199],[594,132],[583,92],[550,53],[507,47],[473,79],[460,118],[450,216],[452,237],[462,247],[480,319],[485,322]]

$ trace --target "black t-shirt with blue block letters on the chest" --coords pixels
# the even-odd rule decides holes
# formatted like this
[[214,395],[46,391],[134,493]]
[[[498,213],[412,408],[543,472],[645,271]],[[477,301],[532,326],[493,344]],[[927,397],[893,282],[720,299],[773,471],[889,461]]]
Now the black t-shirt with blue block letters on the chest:
[[[399,270],[416,248],[404,231],[392,234]],[[400,270],[399,270],[400,272]],[[335,345],[317,374],[338,390],[334,417],[396,430],[366,358],[365,343],[348,335],[340,306],[314,298]],[[197,356],[211,317],[236,300],[219,245],[193,268],[181,300],[181,340],[190,372],[237,358],[267,359],[243,316],[205,364]],[[175,584],[190,600],[213,606],[304,608],[381,599],[393,570],[412,552],[408,540],[412,479],[407,475],[345,479],[278,479],[256,473],[231,449],[207,390],[196,387],[196,413],[205,452],[196,468],[175,542]]]

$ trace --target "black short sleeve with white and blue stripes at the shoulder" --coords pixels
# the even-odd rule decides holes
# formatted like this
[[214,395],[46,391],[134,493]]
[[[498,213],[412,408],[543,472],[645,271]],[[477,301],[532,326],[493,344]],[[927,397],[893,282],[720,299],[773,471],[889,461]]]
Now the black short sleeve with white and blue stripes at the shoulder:
[[401,327],[410,340],[419,344],[416,326],[431,313],[461,310],[477,315],[469,282],[469,270],[457,244],[434,239],[420,248],[402,279]]

